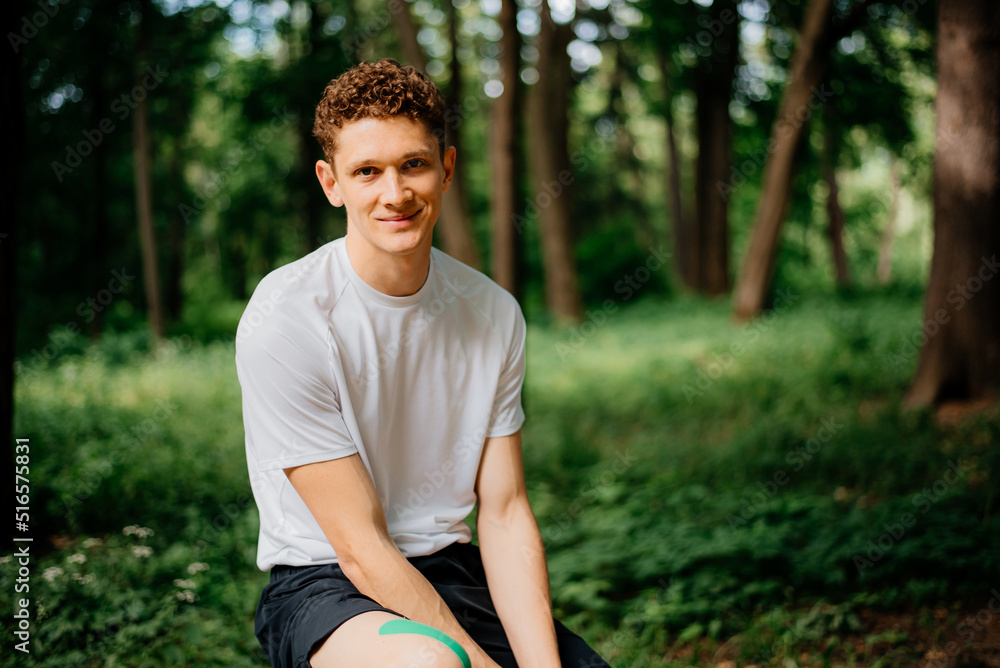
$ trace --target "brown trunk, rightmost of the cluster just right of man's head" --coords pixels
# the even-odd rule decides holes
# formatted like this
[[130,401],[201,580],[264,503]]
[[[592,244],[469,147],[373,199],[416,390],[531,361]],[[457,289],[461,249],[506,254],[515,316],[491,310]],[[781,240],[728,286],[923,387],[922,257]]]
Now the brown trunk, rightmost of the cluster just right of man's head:
[[535,203],[541,219],[545,301],[552,316],[576,321],[583,314],[571,229],[572,172],[567,150],[569,111],[569,26],[556,25],[548,0],[541,3],[538,83],[530,97],[530,135]]

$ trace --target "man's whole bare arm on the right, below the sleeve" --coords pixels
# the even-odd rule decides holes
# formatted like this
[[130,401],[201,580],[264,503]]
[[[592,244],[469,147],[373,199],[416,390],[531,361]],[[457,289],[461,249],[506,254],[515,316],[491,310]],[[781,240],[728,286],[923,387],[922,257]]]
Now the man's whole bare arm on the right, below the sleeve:
[[476,492],[486,579],[517,665],[557,668],[545,547],[524,486],[520,431],[486,440]]

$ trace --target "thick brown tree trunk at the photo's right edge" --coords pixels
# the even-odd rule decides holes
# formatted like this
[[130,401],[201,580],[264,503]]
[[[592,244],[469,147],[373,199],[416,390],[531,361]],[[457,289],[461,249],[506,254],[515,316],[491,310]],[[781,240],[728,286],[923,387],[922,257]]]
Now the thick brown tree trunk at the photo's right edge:
[[934,256],[910,408],[1000,389],[1000,4],[942,2],[937,59]]

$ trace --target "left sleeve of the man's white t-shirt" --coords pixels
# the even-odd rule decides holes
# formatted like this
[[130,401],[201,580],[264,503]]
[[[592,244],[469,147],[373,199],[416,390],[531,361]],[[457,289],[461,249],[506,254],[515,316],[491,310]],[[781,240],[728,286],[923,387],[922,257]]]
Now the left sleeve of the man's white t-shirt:
[[324,374],[322,365],[330,359],[327,351],[318,341],[297,338],[257,331],[237,346],[247,450],[261,471],[358,451],[344,422],[338,392]]

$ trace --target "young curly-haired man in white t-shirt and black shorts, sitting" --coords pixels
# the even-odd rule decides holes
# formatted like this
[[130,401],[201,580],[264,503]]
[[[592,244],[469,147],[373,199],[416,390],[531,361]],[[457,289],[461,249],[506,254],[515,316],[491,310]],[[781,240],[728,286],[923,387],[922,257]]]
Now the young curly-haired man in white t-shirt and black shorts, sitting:
[[261,645],[275,668],[606,666],[552,618],[521,310],[431,247],[455,169],[439,91],[362,63],[327,86],[314,132],[347,235],[265,277],[237,334],[271,571]]

